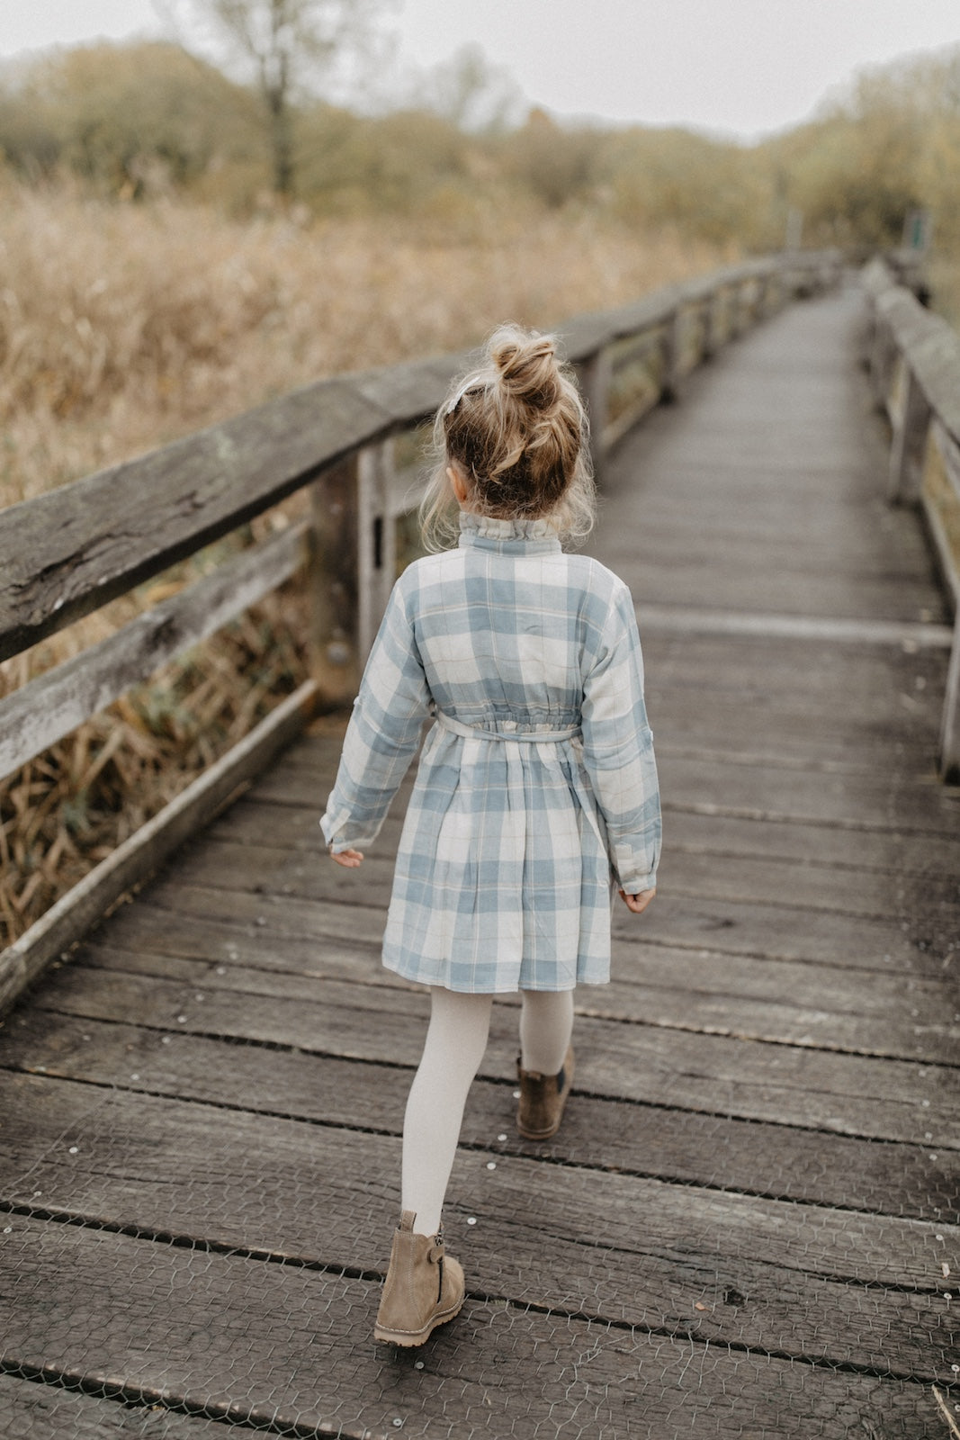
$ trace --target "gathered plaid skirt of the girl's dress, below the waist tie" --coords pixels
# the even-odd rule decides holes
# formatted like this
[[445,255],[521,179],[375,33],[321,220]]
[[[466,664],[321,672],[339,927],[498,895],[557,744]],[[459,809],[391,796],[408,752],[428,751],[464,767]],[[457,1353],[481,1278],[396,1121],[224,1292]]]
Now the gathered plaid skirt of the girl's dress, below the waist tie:
[[403,825],[383,963],[497,994],[610,978],[612,874],[576,739],[429,733]]

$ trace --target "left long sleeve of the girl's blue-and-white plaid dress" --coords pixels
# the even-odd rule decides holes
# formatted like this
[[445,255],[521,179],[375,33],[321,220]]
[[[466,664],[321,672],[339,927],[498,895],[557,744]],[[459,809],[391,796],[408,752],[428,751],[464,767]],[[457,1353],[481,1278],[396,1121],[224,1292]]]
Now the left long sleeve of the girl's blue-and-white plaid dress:
[[335,852],[377,838],[417,750],[429,707],[430,691],[397,582],[370,651],[337,780],[320,821]]

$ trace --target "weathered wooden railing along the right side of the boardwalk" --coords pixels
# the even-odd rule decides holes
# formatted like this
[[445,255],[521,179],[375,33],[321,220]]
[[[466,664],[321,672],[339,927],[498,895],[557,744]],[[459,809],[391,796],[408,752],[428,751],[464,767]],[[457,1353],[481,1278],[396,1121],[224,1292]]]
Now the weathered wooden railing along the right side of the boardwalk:
[[[940,773],[960,782],[960,334],[925,310],[902,261],[864,271],[871,301],[865,360],[891,425],[888,498],[920,505],[953,606],[940,726]],[[901,282],[902,281],[902,282]]]

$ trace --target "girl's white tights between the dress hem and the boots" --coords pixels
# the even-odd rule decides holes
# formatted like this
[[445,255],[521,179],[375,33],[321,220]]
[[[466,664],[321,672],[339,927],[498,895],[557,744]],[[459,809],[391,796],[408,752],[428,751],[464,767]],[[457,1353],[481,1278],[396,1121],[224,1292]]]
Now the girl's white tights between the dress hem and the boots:
[[[430,1025],[403,1122],[402,1210],[415,1230],[435,1236],[453,1168],[466,1092],[489,1034],[492,995],[430,988]],[[557,1074],[573,1030],[573,991],[522,991],[520,1048],[524,1070]]]

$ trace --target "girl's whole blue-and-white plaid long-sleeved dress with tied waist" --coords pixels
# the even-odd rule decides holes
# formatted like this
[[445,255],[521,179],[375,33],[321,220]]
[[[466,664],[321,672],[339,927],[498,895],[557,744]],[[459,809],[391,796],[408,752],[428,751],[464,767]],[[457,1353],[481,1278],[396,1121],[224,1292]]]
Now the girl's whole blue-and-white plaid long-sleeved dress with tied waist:
[[383,962],[453,991],[610,978],[613,886],[656,883],[661,812],[626,585],[548,521],[463,513],[397,580],[321,819],[368,845],[433,717]]

